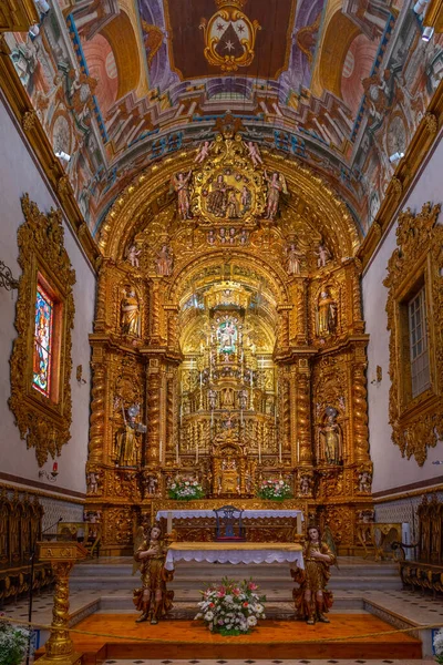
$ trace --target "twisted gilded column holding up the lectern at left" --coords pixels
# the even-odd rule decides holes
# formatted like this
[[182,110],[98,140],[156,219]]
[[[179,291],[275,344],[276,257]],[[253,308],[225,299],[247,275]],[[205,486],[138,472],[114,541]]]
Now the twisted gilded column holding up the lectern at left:
[[55,575],[55,590],[51,636],[45,645],[45,655],[54,662],[64,663],[63,656],[71,656],[74,653],[74,645],[66,630],[69,627],[69,574],[74,562],[54,561],[51,565]]

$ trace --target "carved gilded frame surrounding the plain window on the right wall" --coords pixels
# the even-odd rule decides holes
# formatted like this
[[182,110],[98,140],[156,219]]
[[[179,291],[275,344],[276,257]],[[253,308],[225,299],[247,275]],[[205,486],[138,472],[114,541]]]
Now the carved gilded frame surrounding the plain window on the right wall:
[[[440,205],[423,205],[414,215],[409,208],[399,216],[398,248],[388,264],[383,284],[389,288],[387,313],[390,330],[391,389],[389,418],[392,440],[402,457],[415,458],[422,467],[427,447],[443,437],[443,227],[436,223]],[[424,286],[431,386],[411,395],[409,324],[406,304]]]

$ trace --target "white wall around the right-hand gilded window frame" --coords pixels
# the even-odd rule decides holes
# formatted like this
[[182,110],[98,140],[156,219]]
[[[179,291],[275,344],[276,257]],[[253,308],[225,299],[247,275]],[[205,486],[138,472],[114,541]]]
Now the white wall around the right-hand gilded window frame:
[[[418,180],[412,193],[402,205],[412,212],[421,211],[423,203],[443,202],[443,142],[441,141]],[[441,216],[441,221],[443,217]],[[424,482],[443,474],[443,467],[432,464],[434,460],[443,460],[443,443],[427,449],[427,459],[419,467],[414,458],[402,458],[400,449],[391,440],[389,426],[389,332],[385,313],[388,289],[382,282],[387,276],[387,266],[392,252],[396,247],[394,225],[383,239],[378,254],[363,275],[363,308],[367,332],[370,335],[368,349],[368,401],[369,433],[371,458],[374,464],[372,482],[373,492],[383,492],[411,483]],[[371,383],[375,377],[375,367],[383,370],[381,383]]]

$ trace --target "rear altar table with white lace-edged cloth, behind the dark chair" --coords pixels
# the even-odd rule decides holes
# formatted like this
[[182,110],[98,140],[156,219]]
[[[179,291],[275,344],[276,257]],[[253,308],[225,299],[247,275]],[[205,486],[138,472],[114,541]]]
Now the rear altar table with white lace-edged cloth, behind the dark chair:
[[[162,528],[176,531],[178,541],[212,541],[215,533],[214,510],[158,510],[155,519]],[[198,520],[198,522],[197,522]],[[247,541],[293,542],[302,533],[303,512],[297,509],[246,509],[241,516]],[[163,522],[163,523],[162,523]]]

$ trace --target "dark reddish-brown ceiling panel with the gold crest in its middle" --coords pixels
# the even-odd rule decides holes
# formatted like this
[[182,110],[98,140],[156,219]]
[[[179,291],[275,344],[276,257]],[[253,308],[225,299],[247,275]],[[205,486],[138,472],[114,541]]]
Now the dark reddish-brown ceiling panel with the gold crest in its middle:
[[296,6],[296,0],[165,0],[172,70],[182,80],[206,79],[208,71],[277,79],[289,65]]

